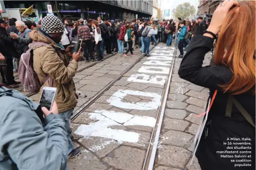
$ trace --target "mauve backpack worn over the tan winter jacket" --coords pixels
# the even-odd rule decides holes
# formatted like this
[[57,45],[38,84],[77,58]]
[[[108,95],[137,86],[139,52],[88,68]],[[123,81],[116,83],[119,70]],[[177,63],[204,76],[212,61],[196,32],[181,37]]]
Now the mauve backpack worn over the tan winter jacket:
[[[44,42],[33,41],[30,44],[30,48],[21,55],[20,63],[19,63],[19,79],[24,86],[24,91],[27,90],[28,92],[38,92],[40,87],[45,84],[45,82],[50,78],[47,76],[44,81],[40,82],[37,74],[33,69],[33,47],[37,45],[45,45],[51,46]],[[52,79],[51,79],[52,84]]]

